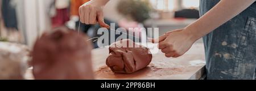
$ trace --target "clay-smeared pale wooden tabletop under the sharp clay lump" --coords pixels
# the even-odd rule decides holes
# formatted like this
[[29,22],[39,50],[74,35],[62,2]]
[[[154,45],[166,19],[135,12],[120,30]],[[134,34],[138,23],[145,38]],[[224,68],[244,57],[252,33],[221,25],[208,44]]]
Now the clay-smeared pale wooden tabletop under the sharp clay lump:
[[193,45],[186,54],[179,58],[166,58],[164,54],[159,51],[159,53],[153,54],[152,62],[148,67],[131,74],[113,73],[110,68],[106,66],[108,53],[108,48],[94,49],[92,51],[93,69],[96,79],[196,80],[200,79],[204,74],[205,57],[203,44]]

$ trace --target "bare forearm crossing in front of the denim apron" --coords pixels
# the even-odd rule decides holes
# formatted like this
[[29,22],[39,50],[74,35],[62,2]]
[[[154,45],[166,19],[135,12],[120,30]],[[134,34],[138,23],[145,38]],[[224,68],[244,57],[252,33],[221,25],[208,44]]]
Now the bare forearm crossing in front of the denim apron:
[[253,2],[255,0],[221,0],[195,23],[188,25],[185,30],[194,34],[194,38],[198,40],[240,14]]

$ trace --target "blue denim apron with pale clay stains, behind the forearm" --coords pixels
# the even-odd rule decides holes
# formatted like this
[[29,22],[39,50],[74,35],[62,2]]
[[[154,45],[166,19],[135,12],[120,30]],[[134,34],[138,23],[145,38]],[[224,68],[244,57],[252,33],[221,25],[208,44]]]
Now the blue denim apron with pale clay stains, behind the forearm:
[[[219,1],[201,0],[200,16]],[[204,36],[203,40],[207,79],[255,79],[256,3]]]

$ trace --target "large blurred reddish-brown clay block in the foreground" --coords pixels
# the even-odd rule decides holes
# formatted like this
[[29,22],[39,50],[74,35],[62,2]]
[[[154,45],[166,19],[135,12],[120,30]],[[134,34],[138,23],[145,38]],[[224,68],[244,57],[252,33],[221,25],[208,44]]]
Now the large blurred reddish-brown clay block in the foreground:
[[93,79],[92,45],[84,34],[67,28],[46,32],[35,42],[35,79]]

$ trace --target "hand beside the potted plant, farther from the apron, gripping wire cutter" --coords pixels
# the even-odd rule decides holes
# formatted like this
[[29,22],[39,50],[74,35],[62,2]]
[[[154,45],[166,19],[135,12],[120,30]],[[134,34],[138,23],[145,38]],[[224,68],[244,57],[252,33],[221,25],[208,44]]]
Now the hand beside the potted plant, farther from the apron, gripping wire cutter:
[[103,7],[109,0],[92,0],[79,7],[79,15],[82,23],[100,24],[101,27],[110,28],[104,22]]

